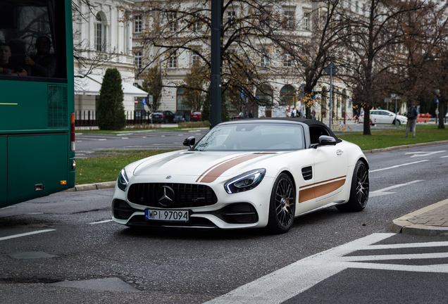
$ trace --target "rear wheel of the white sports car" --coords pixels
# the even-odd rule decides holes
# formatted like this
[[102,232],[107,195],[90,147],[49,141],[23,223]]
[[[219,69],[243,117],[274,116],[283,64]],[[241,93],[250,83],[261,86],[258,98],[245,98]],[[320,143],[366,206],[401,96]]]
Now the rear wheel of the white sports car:
[[353,177],[351,177],[349,201],[342,205],[337,205],[337,210],[344,212],[362,211],[366,208],[368,202],[368,191],[368,168],[366,163],[358,160],[353,171]]

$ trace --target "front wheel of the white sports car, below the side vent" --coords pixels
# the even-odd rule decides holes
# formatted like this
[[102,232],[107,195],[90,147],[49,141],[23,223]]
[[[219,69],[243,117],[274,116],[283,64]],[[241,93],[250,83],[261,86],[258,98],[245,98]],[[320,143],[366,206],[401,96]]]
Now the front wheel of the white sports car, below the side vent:
[[269,232],[282,234],[294,224],[296,212],[296,191],[291,178],[282,173],[275,180],[269,203],[269,219],[266,227]]

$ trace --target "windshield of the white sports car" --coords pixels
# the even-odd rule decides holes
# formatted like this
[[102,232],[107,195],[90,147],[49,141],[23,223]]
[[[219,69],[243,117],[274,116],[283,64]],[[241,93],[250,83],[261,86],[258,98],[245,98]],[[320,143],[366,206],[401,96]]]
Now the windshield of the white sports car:
[[198,151],[290,151],[305,147],[301,125],[246,123],[218,125],[194,150]]

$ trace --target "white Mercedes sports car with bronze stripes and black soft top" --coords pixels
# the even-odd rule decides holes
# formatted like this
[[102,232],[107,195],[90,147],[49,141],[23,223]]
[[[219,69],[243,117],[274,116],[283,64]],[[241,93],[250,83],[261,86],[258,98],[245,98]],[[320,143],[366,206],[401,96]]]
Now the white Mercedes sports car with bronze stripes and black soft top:
[[121,170],[115,222],[283,233],[299,215],[333,205],[361,211],[368,201],[366,156],[316,120],[234,120],[184,144]]

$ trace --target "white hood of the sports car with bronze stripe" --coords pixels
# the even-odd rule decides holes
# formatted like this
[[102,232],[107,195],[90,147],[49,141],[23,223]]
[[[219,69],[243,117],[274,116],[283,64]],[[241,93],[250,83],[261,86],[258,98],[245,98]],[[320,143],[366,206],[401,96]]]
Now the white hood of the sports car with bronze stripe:
[[194,176],[197,182],[213,182],[218,177],[254,169],[257,163],[276,155],[275,152],[180,151],[142,160],[133,173],[135,176]]

